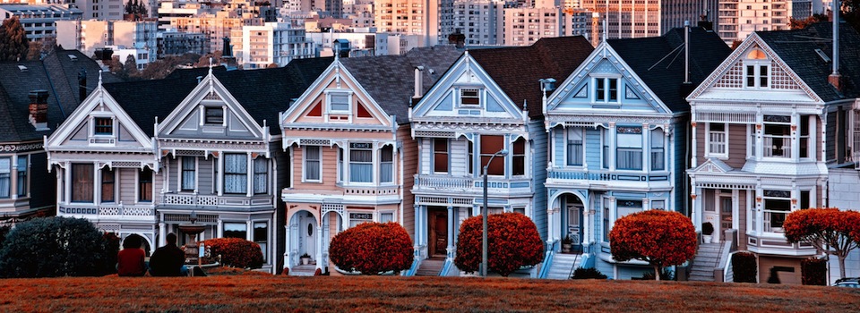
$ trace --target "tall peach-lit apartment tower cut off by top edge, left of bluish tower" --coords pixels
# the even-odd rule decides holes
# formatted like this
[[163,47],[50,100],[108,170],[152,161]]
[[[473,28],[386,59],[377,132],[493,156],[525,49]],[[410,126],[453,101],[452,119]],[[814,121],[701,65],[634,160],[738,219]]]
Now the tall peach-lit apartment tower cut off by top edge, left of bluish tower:
[[[379,32],[418,35],[423,38],[423,46],[434,46],[442,35],[440,10],[450,8],[452,3],[453,0],[377,0],[374,8],[376,29]],[[450,15],[446,19],[450,19]],[[447,38],[447,35],[443,36]]]

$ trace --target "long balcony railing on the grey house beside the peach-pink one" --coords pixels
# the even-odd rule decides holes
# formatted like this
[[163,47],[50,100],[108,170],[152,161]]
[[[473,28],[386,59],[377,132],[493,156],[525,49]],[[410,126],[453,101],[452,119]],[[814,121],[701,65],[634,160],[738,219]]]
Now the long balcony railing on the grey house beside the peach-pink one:
[[166,193],[161,195],[159,207],[215,207],[215,208],[274,208],[274,202],[270,195],[254,195],[245,197],[241,195],[198,195],[193,193]]

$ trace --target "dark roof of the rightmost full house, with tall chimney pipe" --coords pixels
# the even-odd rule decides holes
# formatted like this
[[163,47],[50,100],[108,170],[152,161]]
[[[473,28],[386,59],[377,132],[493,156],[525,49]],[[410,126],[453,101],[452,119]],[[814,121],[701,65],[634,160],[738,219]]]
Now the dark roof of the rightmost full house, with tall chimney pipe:
[[839,73],[843,89],[837,91],[827,77],[832,63],[825,62],[815,49],[833,58],[833,26],[814,23],[804,30],[757,31],[762,41],[784,61],[813,92],[825,102],[860,97],[860,35],[847,23],[839,25]]

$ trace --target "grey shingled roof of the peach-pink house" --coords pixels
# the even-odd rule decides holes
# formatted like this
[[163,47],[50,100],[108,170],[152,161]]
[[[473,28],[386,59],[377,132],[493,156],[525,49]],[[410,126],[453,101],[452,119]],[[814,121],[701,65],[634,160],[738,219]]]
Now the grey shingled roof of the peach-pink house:
[[340,59],[340,63],[387,114],[395,115],[397,123],[402,124],[409,123],[415,68],[424,66],[421,90],[424,95],[460,54],[454,47],[420,47],[406,55],[350,57]]

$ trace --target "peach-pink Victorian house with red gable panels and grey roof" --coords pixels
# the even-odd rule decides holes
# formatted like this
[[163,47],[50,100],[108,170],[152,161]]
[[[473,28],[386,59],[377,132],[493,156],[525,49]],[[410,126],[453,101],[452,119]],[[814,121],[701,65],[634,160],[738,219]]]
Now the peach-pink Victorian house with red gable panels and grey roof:
[[357,224],[395,222],[415,237],[409,187],[417,148],[409,127],[410,100],[415,89],[429,89],[459,54],[432,47],[336,59],[280,115],[282,148],[295,173],[281,190],[287,216],[284,265],[291,274],[298,273],[305,254],[314,268],[337,273],[328,258],[331,238]]

